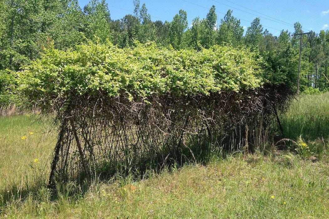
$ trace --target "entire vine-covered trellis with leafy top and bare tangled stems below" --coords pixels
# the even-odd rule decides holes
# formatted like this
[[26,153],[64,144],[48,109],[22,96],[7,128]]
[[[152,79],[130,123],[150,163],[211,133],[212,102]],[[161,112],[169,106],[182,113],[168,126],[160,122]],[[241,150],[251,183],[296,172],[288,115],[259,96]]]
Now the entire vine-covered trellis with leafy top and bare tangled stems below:
[[49,49],[21,72],[21,89],[31,105],[55,113],[52,185],[196,159],[214,148],[253,151],[291,97],[286,78],[273,83],[272,76],[246,48],[89,44]]

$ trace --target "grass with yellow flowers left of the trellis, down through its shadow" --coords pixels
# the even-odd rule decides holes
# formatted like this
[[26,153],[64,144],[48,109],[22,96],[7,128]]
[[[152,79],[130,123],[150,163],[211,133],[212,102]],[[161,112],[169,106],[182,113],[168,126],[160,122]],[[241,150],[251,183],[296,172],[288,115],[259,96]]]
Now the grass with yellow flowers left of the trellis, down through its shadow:
[[45,186],[53,147],[53,135],[34,116],[0,117],[0,211]]

